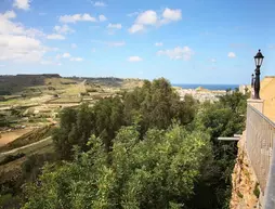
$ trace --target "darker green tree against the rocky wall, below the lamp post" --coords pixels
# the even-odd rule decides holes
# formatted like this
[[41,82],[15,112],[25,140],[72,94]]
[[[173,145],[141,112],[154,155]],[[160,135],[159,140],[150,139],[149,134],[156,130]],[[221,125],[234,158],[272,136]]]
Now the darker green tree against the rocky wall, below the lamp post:
[[[227,92],[213,104],[200,105],[191,129],[208,132],[211,136],[213,160],[201,171],[189,208],[227,209],[231,198],[231,175],[237,155],[236,142],[221,142],[219,136],[233,136],[245,129],[247,94]],[[200,199],[200,201],[197,201]]]

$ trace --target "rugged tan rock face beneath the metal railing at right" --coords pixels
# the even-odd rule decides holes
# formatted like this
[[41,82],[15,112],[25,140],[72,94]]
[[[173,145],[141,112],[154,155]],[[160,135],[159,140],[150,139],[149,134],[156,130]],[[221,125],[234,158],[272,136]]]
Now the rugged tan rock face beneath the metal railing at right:
[[245,148],[246,134],[238,142],[238,156],[232,174],[231,209],[260,208],[260,187]]

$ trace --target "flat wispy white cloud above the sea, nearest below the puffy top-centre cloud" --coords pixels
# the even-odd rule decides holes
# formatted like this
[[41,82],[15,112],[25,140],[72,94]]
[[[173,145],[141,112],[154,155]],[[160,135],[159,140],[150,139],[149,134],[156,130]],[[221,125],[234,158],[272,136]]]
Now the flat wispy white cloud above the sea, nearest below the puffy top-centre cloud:
[[171,60],[185,60],[188,61],[194,55],[194,52],[188,47],[176,47],[172,50],[160,50],[157,52],[158,55],[167,55]]

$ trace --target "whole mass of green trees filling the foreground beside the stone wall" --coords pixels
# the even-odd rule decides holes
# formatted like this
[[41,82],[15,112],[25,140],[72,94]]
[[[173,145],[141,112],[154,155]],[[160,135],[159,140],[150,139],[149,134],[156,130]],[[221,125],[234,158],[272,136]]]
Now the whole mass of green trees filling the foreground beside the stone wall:
[[[66,108],[53,133],[58,160],[26,166],[35,174],[24,178],[23,208],[228,208],[236,143],[217,138],[241,133],[246,99],[235,91],[213,104],[180,101],[158,79]],[[40,174],[44,161],[54,164]]]

